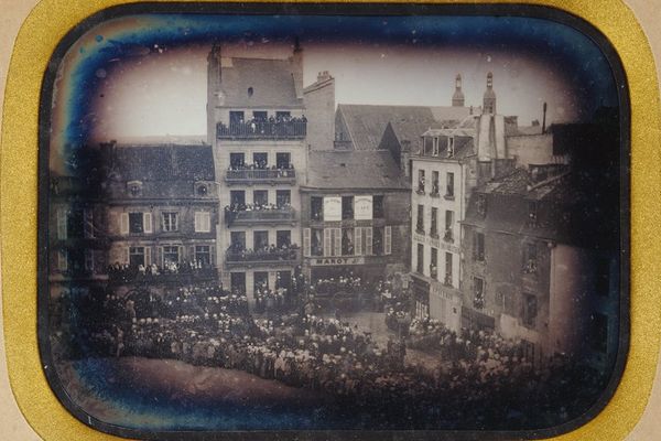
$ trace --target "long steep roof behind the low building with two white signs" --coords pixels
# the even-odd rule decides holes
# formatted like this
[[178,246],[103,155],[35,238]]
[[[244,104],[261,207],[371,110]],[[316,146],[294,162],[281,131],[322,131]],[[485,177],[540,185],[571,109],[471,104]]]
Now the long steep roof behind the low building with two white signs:
[[[426,129],[441,121],[460,121],[468,116],[467,107],[427,106],[337,106],[355,150],[377,150],[389,122],[400,140],[418,139]],[[415,135],[418,132],[418,135]],[[400,138],[402,137],[402,138]]]

